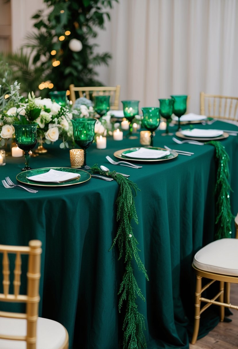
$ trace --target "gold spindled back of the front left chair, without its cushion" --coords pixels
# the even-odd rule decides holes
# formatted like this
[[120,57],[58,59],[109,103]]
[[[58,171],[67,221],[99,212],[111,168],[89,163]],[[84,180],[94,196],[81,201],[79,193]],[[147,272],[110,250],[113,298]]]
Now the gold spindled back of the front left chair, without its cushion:
[[[7,246],[0,245],[2,254],[2,274],[3,274],[3,293],[0,293],[0,302],[26,303],[25,313],[13,313],[0,311],[0,317],[26,319],[27,334],[25,336],[3,335],[0,329],[0,338],[26,341],[27,349],[36,349],[36,322],[38,318],[39,307],[39,280],[40,280],[40,257],[42,253],[42,243],[39,240],[31,240],[29,246]],[[15,254],[15,269],[13,290],[14,294],[9,294],[10,287],[10,268],[9,254]],[[20,295],[21,286],[21,264],[22,254],[28,254],[28,272],[27,272],[27,294]]]

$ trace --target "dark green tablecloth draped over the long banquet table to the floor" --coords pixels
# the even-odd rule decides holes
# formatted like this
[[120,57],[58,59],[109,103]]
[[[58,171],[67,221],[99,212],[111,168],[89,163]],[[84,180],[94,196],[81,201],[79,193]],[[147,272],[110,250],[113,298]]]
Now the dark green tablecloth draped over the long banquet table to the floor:
[[[235,125],[216,121],[196,126],[238,131]],[[173,127],[174,129],[176,128]],[[178,145],[171,136],[156,132],[154,146],[192,151],[171,161],[143,163],[143,168],[114,166],[119,149],[140,146],[136,140],[107,139],[107,148],[88,149],[89,165],[130,174],[138,185],[135,206],[139,224],[132,222],[139,242],[139,255],[149,282],[134,265],[136,280],[146,298],[137,298],[145,317],[147,348],[189,348],[188,335],[193,317],[194,253],[214,238],[216,180],[215,148],[211,145]],[[222,141],[230,157],[232,213],[238,211],[238,136]],[[47,147],[47,145],[46,145]],[[114,158],[116,160],[116,158]],[[23,157],[6,157],[1,179],[16,181]],[[30,159],[32,168],[70,167],[69,150],[59,144],[48,153]],[[80,185],[45,188],[31,194],[0,185],[1,244],[27,245],[30,239],[43,244],[40,282],[40,315],[61,322],[69,332],[70,347],[117,349],[122,338],[122,316],[117,292],[123,272],[118,251],[109,252],[116,233],[116,181],[91,178]],[[232,236],[234,236],[232,224]],[[2,305],[0,305],[1,307]],[[217,322],[206,317],[201,334]]]

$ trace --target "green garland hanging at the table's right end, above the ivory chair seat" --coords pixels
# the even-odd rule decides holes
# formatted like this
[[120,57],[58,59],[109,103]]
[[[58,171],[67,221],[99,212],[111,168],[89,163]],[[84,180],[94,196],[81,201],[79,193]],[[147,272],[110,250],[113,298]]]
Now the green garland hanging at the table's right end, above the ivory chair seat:
[[215,186],[216,194],[216,239],[230,238],[231,237],[231,205],[230,205],[230,191],[229,184],[229,156],[225,151],[225,147],[218,141],[210,141],[206,144],[211,144],[216,149],[217,158],[217,179]]

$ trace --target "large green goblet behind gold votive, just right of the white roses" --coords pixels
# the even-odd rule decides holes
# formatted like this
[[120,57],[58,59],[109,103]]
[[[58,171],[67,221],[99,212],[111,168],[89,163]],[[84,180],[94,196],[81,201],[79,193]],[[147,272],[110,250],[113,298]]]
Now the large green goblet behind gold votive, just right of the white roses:
[[96,124],[96,119],[74,119],[71,120],[73,124],[73,134],[75,143],[77,143],[80,148],[84,151],[84,162],[82,168],[90,169],[86,164],[86,149],[94,140],[94,126]]

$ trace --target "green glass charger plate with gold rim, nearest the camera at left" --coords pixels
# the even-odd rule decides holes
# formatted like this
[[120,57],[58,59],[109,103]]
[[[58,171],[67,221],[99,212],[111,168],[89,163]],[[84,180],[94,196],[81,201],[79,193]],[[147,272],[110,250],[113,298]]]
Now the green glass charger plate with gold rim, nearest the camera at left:
[[[36,182],[34,180],[30,180],[27,178],[30,176],[35,176],[36,174],[42,174],[42,173],[48,172],[50,169],[57,170],[57,171],[64,171],[64,172],[79,173],[80,177],[70,179],[61,183]],[[66,187],[69,185],[76,185],[76,184],[87,182],[90,178],[91,178],[91,174],[88,173],[87,171],[73,169],[71,167],[43,167],[40,169],[23,171],[18,173],[16,176],[16,179],[18,180],[18,182],[28,184],[28,185],[34,185],[38,187]]]

